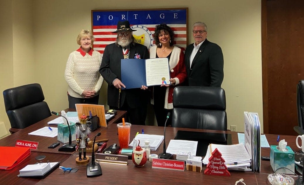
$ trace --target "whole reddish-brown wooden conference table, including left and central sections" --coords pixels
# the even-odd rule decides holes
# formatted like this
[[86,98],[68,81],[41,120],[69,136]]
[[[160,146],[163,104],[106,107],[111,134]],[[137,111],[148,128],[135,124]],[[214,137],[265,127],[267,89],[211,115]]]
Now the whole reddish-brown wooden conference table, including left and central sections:
[[[108,146],[112,143],[119,143],[117,136],[117,126],[115,123],[121,121],[121,117],[125,115],[117,114],[108,124],[106,128],[100,128],[93,132],[97,134],[101,132],[101,135],[96,138],[104,139],[108,138]],[[120,117],[120,118],[118,118]],[[253,172],[243,172],[243,171],[230,171],[231,176],[208,176],[203,173],[197,173],[192,171],[175,171],[167,169],[154,169],[151,168],[151,163],[147,162],[143,167],[136,167],[131,160],[129,164],[116,165],[116,164],[104,164],[100,163],[102,168],[102,176],[87,178],[86,177],[86,167],[78,167],[77,173],[63,173],[61,169],[56,169],[53,173],[47,176],[45,179],[32,179],[32,178],[21,178],[17,177],[19,170],[22,169],[27,164],[34,164],[37,162],[35,159],[38,155],[46,155],[46,159],[42,162],[49,160],[50,162],[60,162],[60,166],[64,167],[76,167],[80,166],[75,163],[75,158],[77,156],[71,156],[74,152],[58,152],[58,147],[55,149],[49,149],[51,143],[57,141],[57,138],[47,138],[42,136],[28,135],[29,132],[37,130],[41,127],[47,126],[47,122],[56,118],[55,115],[49,117],[43,121],[33,124],[22,131],[16,132],[15,134],[9,135],[6,138],[0,140],[0,146],[14,146],[16,139],[27,140],[27,141],[39,141],[38,150],[32,150],[31,155],[25,159],[22,163],[11,170],[0,170],[0,182],[5,184],[79,184],[79,183],[98,183],[98,184],[234,184],[237,180],[243,178],[247,185],[250,184],[270,184],[267,180],[267,176],[273,173],[269,161],[261,162],[261,173]],[[164,127],[155,126],[140,126],[132,125],[130,136],[133,138],[136,132],[144,129],[145,134],[164,134]],[[201,131],[201,132],[213,132],[213,133],[229,133],[232,135],[232,144],[238,143],[237,132],[231,131],[212,131],[212,130],[200,130],[200,129],[185,129],[185,128],[166,128],[166,143],[168,145],[169,141],[174,138],[178,130],[185,131]],[[277,135],[266,134],[267,140],[270,145],[278,145],[276,141]],[[295,145],[296,136],[280,135],[280,139],[285,139],[294,150],[298,150]],[[160,145],[156,151],[151,151],[151,153],[159,154],[163,152],[163,143]],[[262,155],[269,155],[270,148],[261,148]],[[90,153],[88,155],[91,155]],[[86,166],[86,165],[84,165]],[[203,170],[206,166],[203,166]],[[202,170],[202,171],[203,171]]]

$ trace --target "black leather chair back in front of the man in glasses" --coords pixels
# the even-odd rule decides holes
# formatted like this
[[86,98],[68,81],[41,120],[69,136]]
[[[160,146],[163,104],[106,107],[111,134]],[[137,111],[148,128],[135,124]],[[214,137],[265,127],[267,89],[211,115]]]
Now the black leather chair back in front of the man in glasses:
[[176,87],[173,91],[172,114],[172,127],[225,131],[225,91],[219,87]]

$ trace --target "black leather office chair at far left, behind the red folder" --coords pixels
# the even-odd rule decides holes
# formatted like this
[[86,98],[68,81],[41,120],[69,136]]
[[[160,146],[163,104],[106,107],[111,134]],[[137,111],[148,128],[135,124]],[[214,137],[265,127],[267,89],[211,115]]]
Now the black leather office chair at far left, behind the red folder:
[[44,102],[40,84],[28,84],[3,91],[4,105],[11,133],[19,131],[51,116],[49,106]]

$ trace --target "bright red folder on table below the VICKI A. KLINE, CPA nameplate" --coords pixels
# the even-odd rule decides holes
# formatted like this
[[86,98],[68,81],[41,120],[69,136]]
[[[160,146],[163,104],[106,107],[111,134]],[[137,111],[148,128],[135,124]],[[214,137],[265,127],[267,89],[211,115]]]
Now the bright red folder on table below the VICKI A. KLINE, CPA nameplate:
[[0,146],[0,169],[12,169],[30,154],[28,147]]

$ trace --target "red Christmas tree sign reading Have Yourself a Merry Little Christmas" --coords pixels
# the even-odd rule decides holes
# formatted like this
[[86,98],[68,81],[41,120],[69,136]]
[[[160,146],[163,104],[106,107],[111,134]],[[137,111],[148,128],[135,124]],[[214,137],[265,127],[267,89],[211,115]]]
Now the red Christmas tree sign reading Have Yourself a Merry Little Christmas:
[[217,175],[217,176],[230,176],[230,172],[227,170],[227,166],[224,164],[225,160],[222,158],[221,152],[217,148],[212,152],[209,158],[207,169],[205,169],[205,175]]

